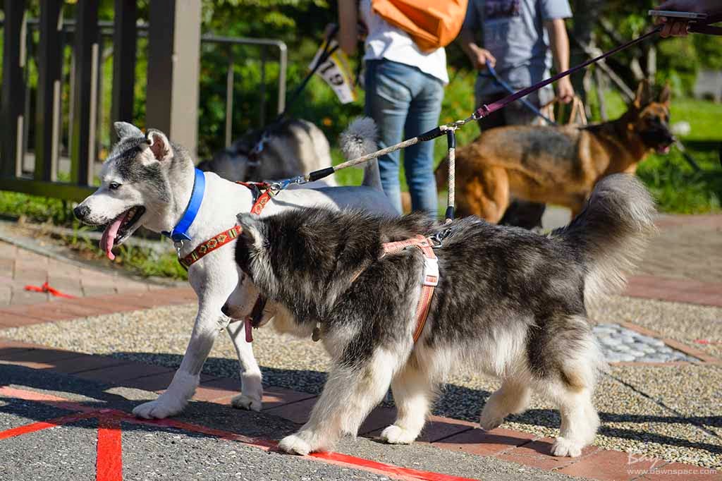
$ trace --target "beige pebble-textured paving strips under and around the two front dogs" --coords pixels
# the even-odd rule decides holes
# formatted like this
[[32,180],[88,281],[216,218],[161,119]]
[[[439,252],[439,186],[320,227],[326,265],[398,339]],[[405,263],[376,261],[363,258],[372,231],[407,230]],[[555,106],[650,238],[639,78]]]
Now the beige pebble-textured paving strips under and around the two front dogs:
[[[172,306],[116,313],[56,324],[0,331],[0,337],[22,339],[81,352],[113,355],[176,367],[191,333],[195,306]],[[718,340],[722,309],[615,297],[590,313],[605,323],[630,321],[692,344]],[[255,352],[264,383],[318,393],[329,358],[320,344],[295,339],[271,329],[254,332]],[[695,345],[722,355],[715,345]],[[722,356],[721,356],[722,357]],[[235,352],[221,335],[204,372],[238,377]],[[476,373],[449,380],[435,406],[439,415],[476,421],[498,381]],[[596,445],[671,462],[722,467],[722,367],[717,365],[614,366],[601,378],[595,402],[602,427]],[[555,436],[559,417],[552,405],[534,399],[529,411],[510,417],[503,427]]]

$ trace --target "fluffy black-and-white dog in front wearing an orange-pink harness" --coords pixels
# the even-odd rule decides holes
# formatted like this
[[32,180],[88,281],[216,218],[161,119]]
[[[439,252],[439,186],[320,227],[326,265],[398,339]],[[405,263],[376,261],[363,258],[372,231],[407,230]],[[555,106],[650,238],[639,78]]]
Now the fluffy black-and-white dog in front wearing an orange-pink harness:
[[[440,384],[464,366],[503,381],[484,405],[482,428],[526,410],[536,391],[560,410],[552,452],[579,456],[599,426],[592,394],[606,367],[586,306],[624,284],[654,213],[639,181],[612,175],[549,236],[476,217],[437,227],[420,215],[318,208],[238,215],[235,259],[279,306],[274,324],[303,337],[318,329],[333,363],[310,420],[279,446],[297,454],[332,449],[357,433],[389,385],[399,414],[381,438],[411,443]],[[425,258],[417,248],[383,256],[382,244],[447,229],[435,249],[439,283],[414,344]]]

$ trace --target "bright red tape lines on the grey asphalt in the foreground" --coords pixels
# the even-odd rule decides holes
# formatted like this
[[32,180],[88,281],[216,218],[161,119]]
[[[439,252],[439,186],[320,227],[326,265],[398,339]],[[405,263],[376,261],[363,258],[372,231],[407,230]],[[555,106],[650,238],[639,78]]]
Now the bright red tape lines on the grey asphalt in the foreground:
[[[22,436],[22,434],[34,433],[35,431],[53,428],[57,425],[73,423],[77,420],[97,417],[99,427],[97,440],[96,481],[121,481],[123,479],[121,421],[123,423],[155,425],[165,428],[186,430],[191,433],[206,434],[208,436],[214,436],[228,441],[238,441],[246,446],[264,449],[266,451],[274,449],[278,444],[275,441],[251,438],[237,433],[232,433],[230,431],[207,428],[206,426],[184,423],[183,421],[176,421],[172,419],[146,420],[134,417],[127,412],[119,410],[90,410],[89,407],[78,402],[70,401],[69,399],[63,399],[61,397],[38,393],[35,391],[15,389],[9,386],[0,386],[0,395],[15,397],[17,399],[24,399],[27,401],[42,402],[43,404],[63,407],[63,409],[68,410],[74,409],[86,411],[76,415],[58,417],[54,420],[32,423],[19,428],[2,431],[0,432],[0,440],[12,438],[14,436]],[[304,457],[309,460],[360,469],[362,471],[373,472],[378,475],[386,475],[404,481],[474,481],[467,477],[443,475],[438,472],[419,471],[418,469],[394,466],[393,464],[375,462],[370,459],[357,458],[356,456],[349,456],[347,454],[334,452],[313,453]]]

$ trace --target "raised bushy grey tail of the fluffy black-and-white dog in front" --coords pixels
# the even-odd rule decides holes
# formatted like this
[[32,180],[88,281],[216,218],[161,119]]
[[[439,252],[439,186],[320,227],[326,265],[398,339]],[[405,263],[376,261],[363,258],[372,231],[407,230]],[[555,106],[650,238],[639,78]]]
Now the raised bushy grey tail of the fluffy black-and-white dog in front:
[[652,196],[633,175],[599,181],[583,211],[552,232],[581,254],[586,267],[584,298],[595,303],[625,287],[626,277],[656,232]]

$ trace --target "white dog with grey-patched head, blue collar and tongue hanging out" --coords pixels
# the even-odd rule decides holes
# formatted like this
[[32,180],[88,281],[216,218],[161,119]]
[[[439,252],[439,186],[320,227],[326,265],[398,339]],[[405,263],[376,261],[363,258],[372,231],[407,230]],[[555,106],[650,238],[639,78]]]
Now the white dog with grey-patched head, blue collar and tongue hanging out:
[[[74,209],[76,217],[85,224],[105,226],[101,248],[110,259],[113,247],[126,241],[141,226],[156,233],[173,230],[186,211],[196,175],[188,151],[170,142],[161,131],[150,129],[143,133],[124,122],[116,123],[116,131],[120,140],[100,171],[100,187]],[[349,158],[377,149],[373,121],[362,118],[352,123],[342,135],[342,147]],[[212,172],[204,175],[204,198],[187,231],[191,241],[183,242],[180,256],[187,256],[201,243],[235,226],[238,212],[250,212],[253,206],[253,193],[248,188]],[[317,205],[395,213],[381,190],[378,165],[368,162],[362,186],[284,190],[266,204],[261,216]],[[219,326],[226,326],[240,362],[241,394],[232,399],[232,405],[261,410],[261,371],[251,344],[245,342],[243,323],[228,324],[221,311],[229,296],[241,316],[248,316],[256,301],[255,287],[251,282],[240,282],[233,259],[234,249],[229,244],[188,269],[188,282],[198,295],[199,306],[186,354],[168,389],[154,401],[137,406],[133,410],[135,415],[162,418],[183,410],[196,391]]]

